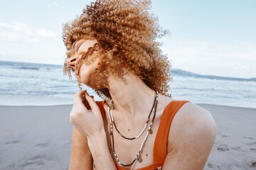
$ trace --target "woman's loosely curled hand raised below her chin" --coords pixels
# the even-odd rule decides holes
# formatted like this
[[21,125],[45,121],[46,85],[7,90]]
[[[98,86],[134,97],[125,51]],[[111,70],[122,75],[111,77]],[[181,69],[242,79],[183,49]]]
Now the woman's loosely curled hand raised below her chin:
[[74,105],[70,112],[70,123],[87,138],[100,134],[104,130],[100,108],[86,91],[74,96]]

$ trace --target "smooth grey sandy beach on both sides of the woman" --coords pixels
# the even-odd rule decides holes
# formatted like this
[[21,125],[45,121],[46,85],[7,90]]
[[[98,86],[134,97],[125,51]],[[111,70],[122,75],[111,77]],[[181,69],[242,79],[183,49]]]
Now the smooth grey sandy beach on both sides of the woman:
[[[256,109],[198,105],[217,124],[205,170],[256,169]],[[68,169],[71,108],[0,106],[0,169]]]

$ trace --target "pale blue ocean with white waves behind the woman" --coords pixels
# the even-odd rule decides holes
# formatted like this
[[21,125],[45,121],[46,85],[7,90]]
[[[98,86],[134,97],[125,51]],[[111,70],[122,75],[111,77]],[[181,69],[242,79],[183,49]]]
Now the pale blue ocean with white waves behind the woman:
[[[256,78],[240,79],[171,69],[170,93],[176,100],[256,108]],[[83,86],[95,100],[92,89]],[[63,66],[0,61],[1,106],[50,106],[73,103],[79,91],[75,77],[63,76]]]

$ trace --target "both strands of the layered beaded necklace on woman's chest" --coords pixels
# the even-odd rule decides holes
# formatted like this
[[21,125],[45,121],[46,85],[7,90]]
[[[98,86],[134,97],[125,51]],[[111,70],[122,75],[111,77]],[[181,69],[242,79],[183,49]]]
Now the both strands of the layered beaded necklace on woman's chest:
[[[110,136],[112,138],[112,152],[114,154],[114,158],[116,159],[116,161],[118,162],[118,164],[122,165],[122,166],[131,166],[132,164],[134,164],[134,162],[142,162],[142,151],[143,151],[143,148],[144,148],[144,145],[145,145],[145,142],[147,140],[147,138],[149,137],[149,134],[152,134],[152,125],[154,123],[154,118],[156,116],[156,108],[157,108],[157,103],[158,103],[158,91],[156,91],[156,94],[155,94],[155,97],[154,97],[154,103],[153,103],[153,106],[151,108],[151,111],[149,113],[149,116],[148,116],[148,119],[146,120],[146,123],[144,125],[144,128],[142,129],[142,131],[139,133],[139,135],[135,136],[135,137],[126,137],[124,135],[122,135],[122,133],[118,130],[117,128],[117,125],[114,123],[114,116],[113,116],[113,108],[114,108],[114,102],[112,101],[110,103],[110,106],[108,108],[108,115],[109,115],[109,118],[110,118]],[[151,117],[151,113],[154,109],[154,115],[153,115],[153,118],[151,119],[151,123],[149,124],[149,120],[150,120],[150,117]],[[146,127],[147,125],[149,124],[149,128],[146,132],[146,135],[144,137],[144,140],[142,141],[142,144],[141,146],[139,147],[139,152],[137,152],[137,154],[135,155],[133,161],[129,164],[123,164],[120,160],[119,160],[119,157],[117,156],[117,153],[115,152],[114,150],[114,133],[113,133],[113,127],[115,128],[115,130],[117,130],[118,134],[123,137],[124,139],[126,140],[135,140],[135,139],[138,139],[140,136],[142,136],[143,132],[146,130]]]

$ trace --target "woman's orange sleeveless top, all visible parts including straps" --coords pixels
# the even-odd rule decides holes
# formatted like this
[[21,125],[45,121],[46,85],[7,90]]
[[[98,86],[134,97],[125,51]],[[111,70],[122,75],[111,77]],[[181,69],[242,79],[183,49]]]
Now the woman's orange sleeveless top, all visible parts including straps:
[[[161,115],[161,122],[159,124],[159,129],[156,133],[156,139],[154,141],[154,162],[149,166],[145,166],[143,168],[137,170],[157,170],[161,169],[164,165],[164,160],[167,156],[167,147],[168,147],[168,137],[169,131],[171,128],[171,122],[174,119],[174,115],[178,112],[178,110],[188,101],[171,101],[166,108],[164,108],[164,112]],[[97,101],[97,105],[100,108],[100,112],[102,113],[102,117],[105,115],[104,111],[104,101]],[[118,170],[126,170],[124,167],[116,164]]]

